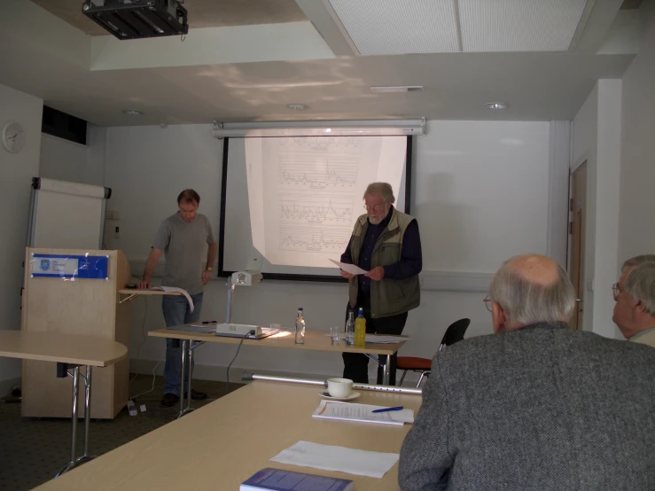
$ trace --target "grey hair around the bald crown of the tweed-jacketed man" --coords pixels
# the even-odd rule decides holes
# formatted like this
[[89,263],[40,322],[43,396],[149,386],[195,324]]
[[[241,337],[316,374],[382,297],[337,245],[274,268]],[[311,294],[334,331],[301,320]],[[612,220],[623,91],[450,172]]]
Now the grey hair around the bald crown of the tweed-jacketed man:
[[489,298],[503,308],[507,323],[530,325],[571,318],[575,291],[561,266],[553,284],[538,284],[528,281],[510,263],[511,259],[503,263],[489,285]]

